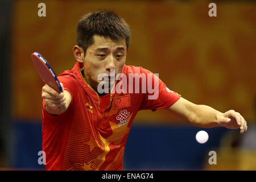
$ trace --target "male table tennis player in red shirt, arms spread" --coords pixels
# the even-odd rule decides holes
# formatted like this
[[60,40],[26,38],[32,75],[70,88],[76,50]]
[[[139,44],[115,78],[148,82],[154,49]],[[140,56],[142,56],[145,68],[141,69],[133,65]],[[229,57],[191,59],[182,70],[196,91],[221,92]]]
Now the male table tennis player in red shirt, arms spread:
[[[47,170],[122,170],[131,124],[143,109],[168,108],[193,126],[240,128],[240,133],[247,130],[240,113],[221,113],[193,104],[168,89],[160,79],[156,99],[149,99],[152,94],[142,91],[100,94],[100,73],[110,76],[114,70],[115,76],[123,73],[127,78],[129,73],[152,74],[147,69],[125,65],[130,36],[125,20],[110,11],[94,11],[79,20],[77,46],[73,47],[77,63],[58,77],[64,93],[43,86],[42,135]],[[151,79],[147,78],[147,82],[153,83],[156,78]],[[63,105],[66,110],[60,109]]]

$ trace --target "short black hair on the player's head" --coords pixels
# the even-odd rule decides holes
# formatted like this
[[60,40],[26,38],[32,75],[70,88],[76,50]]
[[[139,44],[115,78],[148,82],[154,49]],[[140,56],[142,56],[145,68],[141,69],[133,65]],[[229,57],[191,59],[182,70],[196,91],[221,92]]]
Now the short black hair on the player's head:
[[94,43],[93,35],[108,37],[112,40],[125,39],[128,49],[131,39],[129,25],[113,11],[98,10],[81,17],[77,24],[77,45],[86,53]]

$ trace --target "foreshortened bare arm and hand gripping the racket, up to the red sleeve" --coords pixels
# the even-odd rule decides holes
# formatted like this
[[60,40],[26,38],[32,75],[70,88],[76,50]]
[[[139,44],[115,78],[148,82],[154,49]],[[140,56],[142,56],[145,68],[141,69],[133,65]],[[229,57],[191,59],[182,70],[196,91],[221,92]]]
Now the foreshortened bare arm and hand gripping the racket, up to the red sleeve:
[[[60,83],[60,85],[63,88],[63,84]],[[71,93],[69,93],[67,90],[64,90],[63,93],[57,93],[56,90],[51,88],[49,85],[43,86],[42,98],[44,99],[47,113],[54,115],[64,113],[72,100]],[[65,106],[66,109],[61,110],[61,106]]]

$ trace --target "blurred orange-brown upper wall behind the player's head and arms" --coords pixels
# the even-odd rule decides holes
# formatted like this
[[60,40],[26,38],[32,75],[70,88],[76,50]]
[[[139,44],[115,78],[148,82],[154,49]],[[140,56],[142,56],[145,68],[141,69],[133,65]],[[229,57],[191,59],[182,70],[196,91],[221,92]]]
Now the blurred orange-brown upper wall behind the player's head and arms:
[[[222,112],[234,109],[247,120],[255,119],[255,3],[218,3],[217,17],[210,18],[208,5],[199,2],[44,1],[47,16],[40,18],[39,2],[14,3],[15,118],[41,118],[43,82],[31,53],[40,52],[56,74],[71,69],[80,16],[112,9],[131,27],[126,64],[159,73],[168,88],[191,102]],[[142,111],[136,119],[179,121],[167,111]]]

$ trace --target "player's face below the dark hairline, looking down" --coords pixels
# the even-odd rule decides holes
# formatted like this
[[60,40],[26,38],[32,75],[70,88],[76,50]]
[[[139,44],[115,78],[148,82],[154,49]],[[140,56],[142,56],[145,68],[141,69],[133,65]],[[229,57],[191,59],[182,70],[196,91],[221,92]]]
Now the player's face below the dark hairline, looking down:
[[115,76],[122,72],[126,60],[125,39],[113,41],[110,38],[94,35],[94,44],[86,49],[84,57],[85,79],[94,90],[97,90],[101,80],[98,75],[106,73],[110,76],[110,70]]

